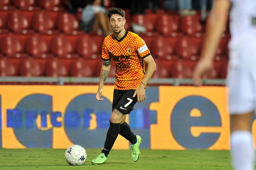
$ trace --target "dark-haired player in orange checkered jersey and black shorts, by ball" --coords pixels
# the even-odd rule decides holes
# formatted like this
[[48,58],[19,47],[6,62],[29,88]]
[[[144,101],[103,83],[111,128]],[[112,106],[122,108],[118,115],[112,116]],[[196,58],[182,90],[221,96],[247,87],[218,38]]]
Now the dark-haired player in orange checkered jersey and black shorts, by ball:
[[[125,122],[136,102],[143,102],[146,98],[145,88],[151,78],[156,64],[145,41],[137,34],[126,31],[125,12],[120,8],[110,8],[108,19],[113,34],[105,37],[102,46],[102,71],[96,99],[102,101],[102,88],[108,77],[111,59],[116,64],[116,82],[113,92],[112,115],[107,132],[104,148],[92,164],[104,164],[113,147],[118,134],[131,142],[131,156],[133,161],[140,158],[141,137],[134,135],[130,126]],[[144,62],[147,69],[144,69]]]

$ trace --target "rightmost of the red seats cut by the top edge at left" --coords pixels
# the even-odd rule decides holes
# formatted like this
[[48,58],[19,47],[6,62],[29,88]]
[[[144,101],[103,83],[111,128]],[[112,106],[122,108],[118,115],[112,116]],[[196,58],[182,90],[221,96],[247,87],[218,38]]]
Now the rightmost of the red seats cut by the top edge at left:
[[39,0],[38,3],[45,10],[63,11],[65,9],[61,7],[61,0]]

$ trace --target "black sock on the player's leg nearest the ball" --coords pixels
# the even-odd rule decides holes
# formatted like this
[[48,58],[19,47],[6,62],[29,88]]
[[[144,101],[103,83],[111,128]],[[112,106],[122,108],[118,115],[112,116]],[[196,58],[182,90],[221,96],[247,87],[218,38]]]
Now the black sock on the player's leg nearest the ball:
[[108,154],[111,148],[113,147],[119,132],[120,132],[120,123],[110,122],[104,148],[102,150],[102,153],[104,153],[106,157],[108,157]]

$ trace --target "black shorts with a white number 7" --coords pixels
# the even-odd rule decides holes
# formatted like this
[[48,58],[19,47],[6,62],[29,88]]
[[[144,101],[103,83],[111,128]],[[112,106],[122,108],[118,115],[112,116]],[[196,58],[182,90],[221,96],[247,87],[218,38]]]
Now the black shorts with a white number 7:
[[129,114],[137,103],[137,95],[133,97],[135,90],[114,89],[112,111],[118,110],[122,114]]

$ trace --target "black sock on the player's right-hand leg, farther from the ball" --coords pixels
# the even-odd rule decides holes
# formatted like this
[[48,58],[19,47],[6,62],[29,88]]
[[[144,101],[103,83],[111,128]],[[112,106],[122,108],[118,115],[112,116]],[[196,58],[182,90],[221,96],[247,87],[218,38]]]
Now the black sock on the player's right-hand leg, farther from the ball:
[[128,141],[130,141],[131,144],[135,144],[137,142],[136,135],[134,135],[134,133],[131,131],[131,127],[126,122],[120,125],[119,134],[123,136],[125,139],[127,139]]

